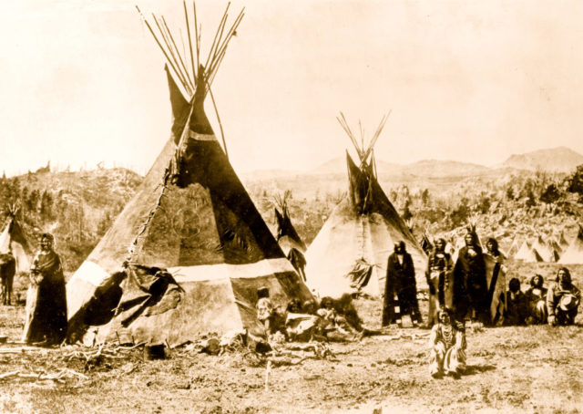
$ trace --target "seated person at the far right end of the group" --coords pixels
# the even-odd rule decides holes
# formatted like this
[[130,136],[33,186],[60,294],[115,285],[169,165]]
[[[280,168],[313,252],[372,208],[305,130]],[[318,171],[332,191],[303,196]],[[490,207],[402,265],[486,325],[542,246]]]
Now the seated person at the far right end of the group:
[[567,267],[558,269],[555,282],[547,292],[548,325],[573,325],[581,292],[571,282]]

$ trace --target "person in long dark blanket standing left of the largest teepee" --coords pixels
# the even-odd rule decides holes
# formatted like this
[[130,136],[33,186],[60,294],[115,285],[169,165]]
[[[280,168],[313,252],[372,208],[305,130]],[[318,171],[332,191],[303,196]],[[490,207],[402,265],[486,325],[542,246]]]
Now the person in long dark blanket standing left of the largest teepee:
[[66,336],[65,276],[61,259],[53,250],[54,240],[50,233],[41,235],[40,251],[30,266],[23,333],[27,344],[56,345]]

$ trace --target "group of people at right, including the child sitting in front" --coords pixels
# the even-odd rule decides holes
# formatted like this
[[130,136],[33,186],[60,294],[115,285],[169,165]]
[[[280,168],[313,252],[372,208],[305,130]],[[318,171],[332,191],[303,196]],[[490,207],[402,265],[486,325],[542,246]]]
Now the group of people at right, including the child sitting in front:
[[[555,284],[548,289],[540,274],[531,279],[525,293],[520,289],[520,281],[512,278],[506,295],[504,291],[501,294],[502,309],[498,306],[493,311],[491,305],[504,255],[496,239],[488,239],[488,268],[476,232],[468,229],[464,241],[455,262],[446,251],[444,239],[437,239],[428,254],[425,277],[429,285],[429,313],[424,327],[432,329],[430,371],[434,378],[444,375],[458,378],[464,372],[466,319],[482,326],[496,323],[557,326],[574,324],[578,313],[581,294],[566,267],[558,270]],[[414,326],[422,323],[414,274],[413,259],[406,252],[405,243],[396,243],[387,263],[383,326],[400,323],[404,315],[411,316]]]

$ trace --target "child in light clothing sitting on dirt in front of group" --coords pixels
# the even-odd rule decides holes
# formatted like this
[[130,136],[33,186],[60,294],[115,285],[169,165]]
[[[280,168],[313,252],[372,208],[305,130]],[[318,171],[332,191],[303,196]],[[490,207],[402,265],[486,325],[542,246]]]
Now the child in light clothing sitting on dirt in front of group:
[[431,329],[429,373],[433,378],[459,378],[465,371],[465,328],[450,309],[439,311],[439,323]]

